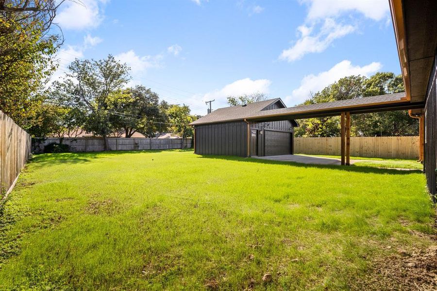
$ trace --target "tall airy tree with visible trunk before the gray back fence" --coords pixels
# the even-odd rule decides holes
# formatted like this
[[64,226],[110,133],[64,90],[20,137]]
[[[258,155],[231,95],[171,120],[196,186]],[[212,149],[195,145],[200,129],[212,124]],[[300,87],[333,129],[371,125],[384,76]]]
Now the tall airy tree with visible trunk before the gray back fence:
[[97,61],[76,59],[68,69],[64,81],[53,82],[52,96],[86,114],[84,129],[102,136],[105,150],[109,150],[108,135],[118,127],[113,123],[111,104],[130,80],[129,67],[109,55]]

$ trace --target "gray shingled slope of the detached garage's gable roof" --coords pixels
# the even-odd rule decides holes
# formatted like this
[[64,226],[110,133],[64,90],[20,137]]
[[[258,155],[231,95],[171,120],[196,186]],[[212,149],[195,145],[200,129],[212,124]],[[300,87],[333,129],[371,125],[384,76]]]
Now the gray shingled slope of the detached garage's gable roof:
[[270,104],[276,103],[278,101],[281,101],[281,103],[284,104],[281,98],[274,98],[274,99],[249,103],[247,105],[237,105],[237,106],[219,108],[205,116],[202,116],[201,118],[199,118],[196,121],[193,121],[190,124],[196,125],[196,124],[217,123],[217,122],[244,119],[247,116],[251,116],[252,114],[259,113]]

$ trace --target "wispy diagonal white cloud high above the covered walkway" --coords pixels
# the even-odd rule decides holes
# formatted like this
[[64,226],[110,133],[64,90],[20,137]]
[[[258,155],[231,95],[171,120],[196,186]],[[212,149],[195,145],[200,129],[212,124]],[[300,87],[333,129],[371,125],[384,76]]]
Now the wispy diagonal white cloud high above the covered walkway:
[[279,56],[281,60],[293,62],[301,59],[305,54],[322,52],[327,49],[334,40],[355,31],[352,25],[337,24],[332,18],[325,19],[320,31],[311,35],[314,26],[301,25],[298,27],[301,38],[289,49],[284,49]]

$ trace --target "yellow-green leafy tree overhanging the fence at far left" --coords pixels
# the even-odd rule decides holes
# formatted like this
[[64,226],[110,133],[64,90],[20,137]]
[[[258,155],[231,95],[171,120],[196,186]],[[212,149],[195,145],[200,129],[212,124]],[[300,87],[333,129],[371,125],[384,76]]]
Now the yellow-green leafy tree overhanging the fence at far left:
[[24,129],[39,110],[40,94],[56,69],[62,38],[50,30],[63,1],[0,0],[0,110]]

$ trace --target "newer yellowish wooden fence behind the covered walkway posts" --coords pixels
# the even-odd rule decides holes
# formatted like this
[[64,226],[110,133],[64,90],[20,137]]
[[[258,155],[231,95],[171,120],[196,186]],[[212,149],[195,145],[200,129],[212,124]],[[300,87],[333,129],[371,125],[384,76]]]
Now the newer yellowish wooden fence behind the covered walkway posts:
[[[340,155],[340,137],[295,137],[294,153]],[[418,159],[418,136],[351,137],[351,156]]]

